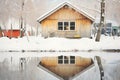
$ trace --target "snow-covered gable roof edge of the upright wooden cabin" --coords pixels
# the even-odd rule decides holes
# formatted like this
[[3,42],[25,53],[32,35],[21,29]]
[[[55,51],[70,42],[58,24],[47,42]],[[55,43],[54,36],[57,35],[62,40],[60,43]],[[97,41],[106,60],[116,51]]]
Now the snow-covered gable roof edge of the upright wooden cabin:
[[89,18],[90,20],[94,21],[95,18],[93,16],[91,16],[90,14],[86,13],[85,11],[83,11],[82,9],[80,10],[77,6],[71,4],[70,2],[63,2],[61,4],[59,4],[58,6],[56,6],[55,8],[53,8],[52,10],[50,10],[49,12],[45,13],[44,15],[40,16],[37,21],[41,22],[42,20],[44,20],[45,18],[49,17],[51,14],[53,14],[54,12],[56,12],[57,10],[59,10],[60,8],[64,7],[65,5],[68,5],[69,7],[73,8],[74,10],[78,11],[80,14],[84,15],[85,17]]

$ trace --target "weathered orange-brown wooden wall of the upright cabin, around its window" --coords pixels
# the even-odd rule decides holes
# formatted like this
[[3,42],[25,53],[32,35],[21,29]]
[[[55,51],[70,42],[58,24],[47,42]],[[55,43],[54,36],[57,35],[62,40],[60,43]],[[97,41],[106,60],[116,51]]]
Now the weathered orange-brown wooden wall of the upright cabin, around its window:
[[[58,22],[64,21],[74,21],[75,30],[59,31]],[[80,37],[90,37],[91,24],[92,21],[79,12],[70,7],[63,7],[41,21],[42,36],[75,37],[75,35],[79,35]]]

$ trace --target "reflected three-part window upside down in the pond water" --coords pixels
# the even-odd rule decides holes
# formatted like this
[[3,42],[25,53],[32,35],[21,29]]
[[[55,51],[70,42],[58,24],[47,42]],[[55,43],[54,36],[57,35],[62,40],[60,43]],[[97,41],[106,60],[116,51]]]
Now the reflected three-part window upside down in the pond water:
[[58,56],[58,64],[75,64],[75,56]]

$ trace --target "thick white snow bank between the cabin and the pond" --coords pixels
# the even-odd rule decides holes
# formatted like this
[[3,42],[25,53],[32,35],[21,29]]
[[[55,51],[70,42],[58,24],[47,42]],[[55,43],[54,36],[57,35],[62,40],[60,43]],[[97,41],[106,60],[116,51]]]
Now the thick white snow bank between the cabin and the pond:
[[100,42],[95,42],[95,38],[47,38],[43,37],[23,37],[0,38],[0,51],[4,50],[104,50],[120,49],[120,37],[101,36]]

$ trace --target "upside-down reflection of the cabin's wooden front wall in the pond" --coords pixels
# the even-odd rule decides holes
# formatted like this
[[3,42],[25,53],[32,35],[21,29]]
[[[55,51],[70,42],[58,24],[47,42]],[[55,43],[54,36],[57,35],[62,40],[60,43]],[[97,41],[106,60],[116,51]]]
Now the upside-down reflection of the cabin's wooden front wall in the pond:
[[40,62],[40,65],[64,79],[73,77],[92,64],[91,58],[63,55],[58,57],[42,57]]

